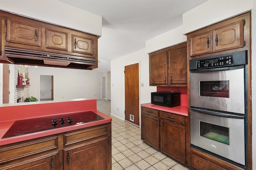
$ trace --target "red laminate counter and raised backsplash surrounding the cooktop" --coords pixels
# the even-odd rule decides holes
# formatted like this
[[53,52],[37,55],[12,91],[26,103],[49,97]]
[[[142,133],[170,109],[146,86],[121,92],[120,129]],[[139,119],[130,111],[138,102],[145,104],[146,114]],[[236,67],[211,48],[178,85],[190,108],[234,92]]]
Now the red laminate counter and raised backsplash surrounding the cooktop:
[[[76,113],[82,111],[93,111],[104,119],[2,139],[4,134],[8,131],[8,129],[16,120],[46,117],[50,115],[62,115],[66,113]],[[104,123],[109,123],[111,121],[111,117],[105,115],[100,111],[97,111],[96,99],[76,99],[60,102],[29,102],[18,105],[2,104],[0,105],[0,146],[38,137],[63,133],[66,131],[81,129],[84,127],[101,125]]]

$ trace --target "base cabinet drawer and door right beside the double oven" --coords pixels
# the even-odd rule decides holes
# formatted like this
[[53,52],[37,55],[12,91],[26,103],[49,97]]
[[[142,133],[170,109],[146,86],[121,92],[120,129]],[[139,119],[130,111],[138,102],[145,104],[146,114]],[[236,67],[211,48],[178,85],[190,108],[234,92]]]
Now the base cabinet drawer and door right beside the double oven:
[[185,117],[160,111],[161,151],[182,164],[186,164]]

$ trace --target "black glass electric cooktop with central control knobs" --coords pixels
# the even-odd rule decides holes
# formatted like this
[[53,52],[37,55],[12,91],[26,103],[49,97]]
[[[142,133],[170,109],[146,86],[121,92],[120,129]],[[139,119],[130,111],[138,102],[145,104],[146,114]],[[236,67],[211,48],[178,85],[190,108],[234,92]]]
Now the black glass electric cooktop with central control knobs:
[[65,115],[18,120],[13,123],[10,129],[4,134],[2,139],[102,119],[104,118],[97,115],[96,113],[92,111],[86,111]]

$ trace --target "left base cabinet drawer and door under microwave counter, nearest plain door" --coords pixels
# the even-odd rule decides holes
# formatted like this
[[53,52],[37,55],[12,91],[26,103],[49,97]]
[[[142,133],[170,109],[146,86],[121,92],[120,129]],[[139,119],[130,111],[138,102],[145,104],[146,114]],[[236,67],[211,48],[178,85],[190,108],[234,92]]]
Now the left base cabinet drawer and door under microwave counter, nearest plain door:
[[158,110],[141,107],[141,139],[159,149]]

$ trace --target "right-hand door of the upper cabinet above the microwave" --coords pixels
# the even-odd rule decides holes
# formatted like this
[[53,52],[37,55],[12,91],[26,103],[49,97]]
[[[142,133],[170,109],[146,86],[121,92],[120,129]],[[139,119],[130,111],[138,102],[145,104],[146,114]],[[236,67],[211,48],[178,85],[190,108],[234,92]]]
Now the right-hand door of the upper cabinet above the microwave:
[[187,48],[169,51],[170,84],[187,84]]

